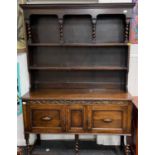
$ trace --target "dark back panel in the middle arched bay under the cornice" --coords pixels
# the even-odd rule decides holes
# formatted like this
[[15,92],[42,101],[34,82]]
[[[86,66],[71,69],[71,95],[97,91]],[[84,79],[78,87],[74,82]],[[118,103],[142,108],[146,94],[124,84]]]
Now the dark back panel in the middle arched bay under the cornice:
[[91,16],[70,15],[64,17],[64,42],[66,43],[90,43],[91,40]]

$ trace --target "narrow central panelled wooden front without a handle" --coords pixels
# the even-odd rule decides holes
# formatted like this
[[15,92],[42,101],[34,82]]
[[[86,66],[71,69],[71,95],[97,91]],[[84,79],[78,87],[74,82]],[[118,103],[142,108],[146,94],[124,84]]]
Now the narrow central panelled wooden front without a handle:
[[67,132],[84,132],[86,129],[86,109],[82,105],[67,107]]

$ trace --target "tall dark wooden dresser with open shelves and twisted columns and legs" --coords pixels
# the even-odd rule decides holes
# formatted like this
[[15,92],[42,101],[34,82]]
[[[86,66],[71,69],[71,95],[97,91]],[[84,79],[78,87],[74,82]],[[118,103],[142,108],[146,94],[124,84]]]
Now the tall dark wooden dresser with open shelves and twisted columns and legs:
[[[133,3],[23,4],[31,88],[23,96],[29,134],[131,136],[127,90]],[[130,154],[125,145],[125,154]]]

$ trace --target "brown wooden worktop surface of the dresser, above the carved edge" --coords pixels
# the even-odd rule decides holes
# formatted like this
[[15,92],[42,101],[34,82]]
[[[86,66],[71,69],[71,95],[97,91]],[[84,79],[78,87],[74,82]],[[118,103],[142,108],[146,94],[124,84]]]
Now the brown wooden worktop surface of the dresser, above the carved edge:
[[30,100],[119,100],[129,101],[132,97],[123,91],[104,91],[100,89],[42,89],[32,90],[22,97]]

